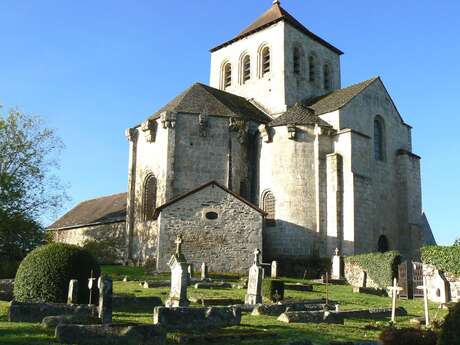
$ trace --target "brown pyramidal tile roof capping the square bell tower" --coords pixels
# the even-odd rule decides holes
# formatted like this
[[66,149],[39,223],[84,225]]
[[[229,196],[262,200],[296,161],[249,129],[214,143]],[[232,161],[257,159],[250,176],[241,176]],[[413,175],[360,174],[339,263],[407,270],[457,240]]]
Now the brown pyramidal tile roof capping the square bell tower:
[[322,38],[320,38],[319,36],[311,32],[310,30],[308,30],[305,26],[303,26],[302,23],[300,23],[291,14],[289,14],[284,8],[282,8],[279,2],[273,3],[273,6],[268,11],[266,11],[264,14],[262,14],[259,18],[257,18],[254,23],[252,23],[246,29],[241,31],[236,37],[234,37],[230,41],[227,41],[223,44],[218,45],[215,48],[212,48],[211,52],[217,51],[225,46],[232,44],[233,42],[239,41],[246,36],[249,36],[257,31],[263,30],[283,20],[286,23],[289,23],[290,25],[292,25],[297,30],[309,36],[312,40],[326,46],[327,48],[331,49],[332,51],[336,52],[339,55],[343,54],[343,52],[340,49],[334,47],[332,44],[326,42],[325,40],[323,40]]

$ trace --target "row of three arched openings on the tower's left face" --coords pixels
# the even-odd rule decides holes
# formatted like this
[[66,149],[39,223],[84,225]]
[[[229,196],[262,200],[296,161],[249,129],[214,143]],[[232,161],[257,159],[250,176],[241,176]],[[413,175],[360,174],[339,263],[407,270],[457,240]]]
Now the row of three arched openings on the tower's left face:
[[[270,47],[262,46],[258,54],[259,78],[265,77],[271,71]],[[243,54],[239,63],[240,84],[245,84],[252,78],[252,61],[249,54]],[[221,88],[227,89],[233,84],[232,64],[226,61],[222,64]]]

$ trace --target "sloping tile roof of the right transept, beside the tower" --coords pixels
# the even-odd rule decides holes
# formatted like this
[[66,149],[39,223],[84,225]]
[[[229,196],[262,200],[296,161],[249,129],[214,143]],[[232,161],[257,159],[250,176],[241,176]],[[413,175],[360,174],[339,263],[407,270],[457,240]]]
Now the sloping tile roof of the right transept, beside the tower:
[[330,113],[331,111],[338,110],[345,106],[354,97],[359,95],[362,91],[364,91],[364,89],[378,79],[379,77],[375,77],[344,89],[335,90],[327,95],[306,100],[303,104],[304,106],[312,109],[315,112],[315,115]]

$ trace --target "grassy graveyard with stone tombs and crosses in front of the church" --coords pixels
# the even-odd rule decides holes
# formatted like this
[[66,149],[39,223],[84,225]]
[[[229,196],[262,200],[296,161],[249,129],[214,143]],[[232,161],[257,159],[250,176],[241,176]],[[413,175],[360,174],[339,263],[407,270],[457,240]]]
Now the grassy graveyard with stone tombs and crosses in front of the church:
[[[273,303],[262,289],[270,277],[263,276],[260,251],[248,277],[208,272],[206,264],[190,269],[181,243],[170,274],[129,266],[102,266],[100,279],[91,272],[88,286],[99,291],[91,307],[75,304],[76,280],[69,282],[67,304],[0,302],[0,344],[379,344],[393,317],[397,327],[415,327],[418,318],[420,328],[426,307],[434,324],[447,315],[439,303],[400,298],[396,279],[388,291],[398,294],[378,296],[356,293],[328,272],[319,280],[276,277],[284,297]],[[72,314],[72,321],[60,314]]]

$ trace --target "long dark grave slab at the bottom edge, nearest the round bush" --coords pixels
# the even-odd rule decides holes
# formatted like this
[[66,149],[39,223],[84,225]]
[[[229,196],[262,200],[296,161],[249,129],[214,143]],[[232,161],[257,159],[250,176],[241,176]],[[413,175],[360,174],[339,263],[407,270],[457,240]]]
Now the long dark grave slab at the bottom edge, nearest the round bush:
[[166,333],[158,325],[58,325],[56,339],[78,345],[164,345]]

